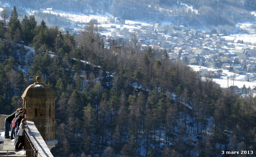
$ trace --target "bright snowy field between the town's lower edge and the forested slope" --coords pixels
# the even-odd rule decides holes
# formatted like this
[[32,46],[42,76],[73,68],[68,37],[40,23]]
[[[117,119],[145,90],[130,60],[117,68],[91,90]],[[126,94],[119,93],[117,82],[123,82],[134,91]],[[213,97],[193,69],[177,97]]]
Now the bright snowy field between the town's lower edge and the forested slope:
[[[199,71],[200,69],[208,69],[208,71],[215,70],[214,68],[207,68],[203,66],[191,66],[189,65],[191,69],[194,71]],[[223,69],[222,69],[223,70]],[[228,70],[223,70],[222,76],[220,79],[213,79],[214,82],[219,84],[222,88],[227,88],[228,86],[238,86],[239,88],[242,88],[243,85],[245,85],[247,88],[250,86],[256,86],[256,82],[248,82],[248,77],[252,78],[255,77],[255,74],[248,73],[247,75],[239,75],[236,73],[229,72]],[[233,79],[234,78],[234,79]]]

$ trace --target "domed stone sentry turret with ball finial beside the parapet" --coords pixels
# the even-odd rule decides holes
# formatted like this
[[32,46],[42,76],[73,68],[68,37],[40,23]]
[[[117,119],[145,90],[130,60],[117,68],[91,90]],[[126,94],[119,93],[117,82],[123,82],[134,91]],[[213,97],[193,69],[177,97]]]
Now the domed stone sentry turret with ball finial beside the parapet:
[[57,97],[49,86],[41,83],[40,76],[36,77],[36,81],[28,86],[21,96],[23,108],[26,109],[26,118],[35,123],[46,143],[57,144],[54,131],[55,100]]

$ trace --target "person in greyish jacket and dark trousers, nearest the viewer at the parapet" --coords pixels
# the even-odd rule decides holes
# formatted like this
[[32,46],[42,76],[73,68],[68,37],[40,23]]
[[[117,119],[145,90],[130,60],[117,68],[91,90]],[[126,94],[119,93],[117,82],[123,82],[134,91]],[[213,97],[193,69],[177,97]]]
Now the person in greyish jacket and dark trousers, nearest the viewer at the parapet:
[[22,119],[19,126],[17,142],[15,143],[16,151],[21,150],[22,147],[24,146],[24,129],[28,128],[26,124],[27,124],[26,118]]

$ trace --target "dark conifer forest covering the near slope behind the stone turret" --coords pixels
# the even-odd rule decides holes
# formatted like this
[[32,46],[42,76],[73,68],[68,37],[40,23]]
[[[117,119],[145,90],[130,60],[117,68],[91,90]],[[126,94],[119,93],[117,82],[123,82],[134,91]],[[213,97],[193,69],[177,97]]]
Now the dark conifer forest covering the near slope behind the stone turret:
[[[54,89],[56,157],[256,155],[256,98],[202,79],[167,51],[138,49],[90,22],[79,35],[23,16],[0,21],[0,114],[40,75]],[[241,154],[242,151],[253,151]]]

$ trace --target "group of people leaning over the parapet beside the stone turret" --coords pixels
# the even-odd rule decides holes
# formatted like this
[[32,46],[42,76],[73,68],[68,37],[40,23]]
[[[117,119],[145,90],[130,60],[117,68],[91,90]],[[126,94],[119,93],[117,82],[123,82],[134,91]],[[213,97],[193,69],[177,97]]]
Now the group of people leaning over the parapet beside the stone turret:
[[[24,129],[26,126],[26,109],[18,108],[5,119],[4,138],[15,139],[15,150],[22,150],[24,146]],[[12,125],[11,136],[9,136],[10,125]],[[14,137],[13,137],[14,136]]]

